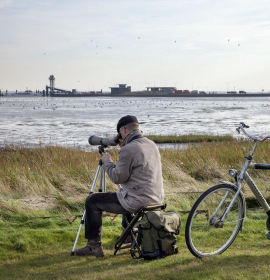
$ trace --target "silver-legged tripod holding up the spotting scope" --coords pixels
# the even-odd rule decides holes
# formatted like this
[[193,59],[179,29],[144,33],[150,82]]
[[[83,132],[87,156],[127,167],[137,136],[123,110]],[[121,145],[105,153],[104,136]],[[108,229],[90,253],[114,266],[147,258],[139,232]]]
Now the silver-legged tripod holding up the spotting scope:
[[[101,154],[102,152],[104,152],[104,148],[106,148],[106,147],[107,147],[106,145],[101,144],[98,147],[98,152]],[[101,160],[101,158],[99,158],[98,159],[97,170],[96,170],[96,173],[95,173],[95,176],[94,176],[94,180],[93,180],[93,184],[92,184],[92,187],[91,187],[91,190],[90,190],[89,194],[94,192],[95,184],[96,184],[96,181],[98,179],[98,175],[100,173],[100,169],[101,169],[101,173],[100,173],[100,182],[99,182],[98,192],[106,191],[106,174],[105,174],[105,169],[103,167],[102,168],[101,167],[102,167],[102,160]],[[119,187],[119,189],[121,188],[120,185],[118,185],[118,187]],[[80,221],[80,224],[79,224],[79,229],[78,229],[78,232],[77,232],[77,236],[76,236],[74,245],[72,247],[72,251],[70,252],[70,255],[74,255],[75,247],[76,247],[76,244],[77,244],[77,241],[78,241],[78,237],[79,237],[79,233],[80,233],[81,227],[84,224],[84,220],[85,220],[85,210],[83,212],[83,215],[82,215],[82,218],[81,218],[81,221]]]

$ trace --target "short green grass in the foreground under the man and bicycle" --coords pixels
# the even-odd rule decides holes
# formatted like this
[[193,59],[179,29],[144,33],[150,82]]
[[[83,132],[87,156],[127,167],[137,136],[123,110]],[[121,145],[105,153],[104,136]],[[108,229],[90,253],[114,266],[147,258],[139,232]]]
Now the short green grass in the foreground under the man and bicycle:
[[[32,212],[32,215],[45,214]],[[49,214],[49,213],[47,213]],[[27,214],[28,218],[31,215]],[[199,260],[185,246],[182,215],[177,238],[179,253],[155,261],[113,255],[120,217],[103,221],[105,256],[69,256],[79,220],[72,225],[51,218],[26,219],[15,215],[0,222],[0,279],[267,279],[270,241],[265,238],[265,214],[248,211],[243,230],[221,255]],[[78,246],[84,246],[81,232]]]

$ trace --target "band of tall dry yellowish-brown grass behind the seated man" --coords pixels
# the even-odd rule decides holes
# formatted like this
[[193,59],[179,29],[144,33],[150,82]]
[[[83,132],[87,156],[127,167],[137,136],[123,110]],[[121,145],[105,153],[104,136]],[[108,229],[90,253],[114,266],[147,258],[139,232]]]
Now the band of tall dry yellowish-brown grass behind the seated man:
[[[239,169],[243,163],[246,140],[202,142],[180,149],[160,150],[162,174],[166,192],[204,190],[213,179],[232,179],[227,175],[231,167]],[[117,149],[110,149],[114,161]],[[100,157],[97,151],[60,146],[38,148],[3,147],[0,149],[0,195],[25,196],[84,196],[88,193]],[[255,161],[267,162],[270,142],[260,143]],[[270,181],[270,172],[252,171],[262,188]],[[107,180],[107,189],[117,186]]]

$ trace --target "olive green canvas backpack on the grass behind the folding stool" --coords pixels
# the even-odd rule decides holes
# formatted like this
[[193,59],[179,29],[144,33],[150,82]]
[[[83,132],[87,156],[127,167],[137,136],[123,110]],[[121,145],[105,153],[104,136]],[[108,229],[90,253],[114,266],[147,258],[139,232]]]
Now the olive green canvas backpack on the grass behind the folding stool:
[[156,259],[177,253],[175,235],[179,234],[180,223],[180,216],[173,211],[145,212],[133,227],[140,246],[139,257]]

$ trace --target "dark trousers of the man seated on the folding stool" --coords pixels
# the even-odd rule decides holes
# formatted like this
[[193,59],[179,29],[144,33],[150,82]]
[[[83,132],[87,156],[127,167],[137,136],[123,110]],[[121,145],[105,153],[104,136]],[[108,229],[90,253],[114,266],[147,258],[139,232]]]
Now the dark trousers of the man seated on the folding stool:
[[[101,240],[101,228],[102,228],[102,211],[126,214],[127,220],[130,222],[132,219],[131,213],[125,210],[116,195],[116,192],[95,192],[86,197],[85,200],[85,233],[86,239]],[[123,228],[126,227],[126,223],[122,220]]]

